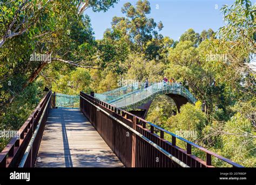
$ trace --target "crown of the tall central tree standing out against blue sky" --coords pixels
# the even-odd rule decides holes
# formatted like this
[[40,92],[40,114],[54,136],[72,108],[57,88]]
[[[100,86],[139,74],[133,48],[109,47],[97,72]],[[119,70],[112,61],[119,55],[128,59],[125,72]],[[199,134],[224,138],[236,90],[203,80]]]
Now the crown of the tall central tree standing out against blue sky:
[[119,29],[134,52],[143,52],[147,41],[153,37],[157,38],[158,33],[155,30],[163,29],[163,23],[154,22],[153,18],[147,18],[151,11],[150,3],[147,0],[139,0],[134,7],[131,3],[125,3],[122,13],[125,17],[113,17],[112,29]]

